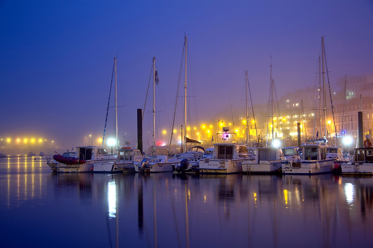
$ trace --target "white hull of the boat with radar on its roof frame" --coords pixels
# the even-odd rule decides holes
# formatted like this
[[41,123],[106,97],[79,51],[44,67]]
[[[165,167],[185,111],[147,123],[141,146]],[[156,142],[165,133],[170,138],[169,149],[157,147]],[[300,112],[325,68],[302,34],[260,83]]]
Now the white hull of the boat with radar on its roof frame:
[[244,159],[201,159],[198,171],[201,174],[233,174],[242,172]]

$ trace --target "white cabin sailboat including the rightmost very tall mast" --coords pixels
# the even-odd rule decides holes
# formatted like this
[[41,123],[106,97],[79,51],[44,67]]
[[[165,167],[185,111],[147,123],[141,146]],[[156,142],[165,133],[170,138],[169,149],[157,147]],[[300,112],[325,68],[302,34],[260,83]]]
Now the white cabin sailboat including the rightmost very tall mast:
[[[325,102],[325,48],[324,48],[324,37],[321,38],[322,44],[322,82],[323,82],[323,117],[324,117],[324,134],[325,138],[322,139],[310,139],[307,140],[306,144],[302,144],[300,148],[303,150],[303,157],[300,163],[291,163],[288,166],[282,167],[283,174],[324,174],[332,173],[332,167],[336,158],[327,158],[327,148],[326,145],[326,102]],[[321,70],[320,70],[321,71]],[[320,80],[321,82],[321,80]],[[321,108],[320,108],[321,109]],[[321,123],[320,123],[321,125]]]

